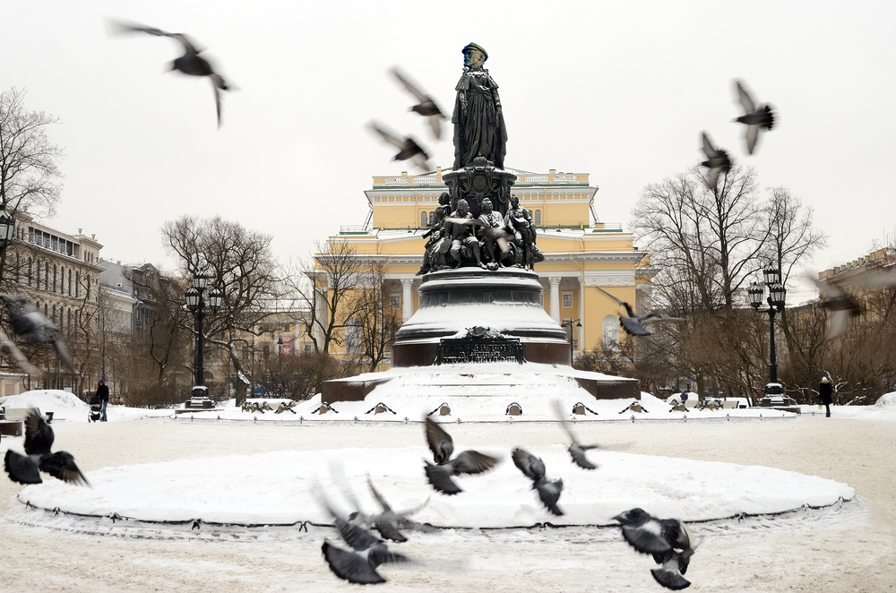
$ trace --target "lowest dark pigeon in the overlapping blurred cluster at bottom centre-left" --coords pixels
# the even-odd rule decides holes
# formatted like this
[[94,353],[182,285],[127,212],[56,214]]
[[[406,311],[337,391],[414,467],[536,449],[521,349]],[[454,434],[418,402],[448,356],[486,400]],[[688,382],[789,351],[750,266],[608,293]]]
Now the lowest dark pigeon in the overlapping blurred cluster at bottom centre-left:
[[360,525],[342,519],[329,504],[323,502],[333,518],[333,523],[342,539],[352,547],[351,552],[324,541],[321,550],[330,570],[342,580],[357,585],[373,585],[386,580],[376,572],[384,563],[412,563],[409,557],[390,552],[382,539],[376,537]]

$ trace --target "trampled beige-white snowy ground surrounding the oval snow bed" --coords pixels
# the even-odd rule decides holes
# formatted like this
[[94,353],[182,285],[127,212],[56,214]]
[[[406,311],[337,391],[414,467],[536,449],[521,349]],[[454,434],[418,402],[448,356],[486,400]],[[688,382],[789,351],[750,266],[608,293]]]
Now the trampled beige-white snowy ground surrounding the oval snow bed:
[[[890,561],[896,554],[896,511],[892,505],[896,458],[868,453],[892,448],[892,425],[858,423],[836,416],[831,419],[803,416],[788,422],[756,419],[738,423],[588,423],[575,429],[583,442],[599,442],[615,451],[657,455],[660,463],[677,464],[685,459],[723,461],[719,464],[723,472],[731,469],[726,466],[733,463],[746,466],[748,472],[753,471],[751,466],[774,467],[797,471],[804,477],[832,478],[849,483],[858,491],[861,502],[844,505],[842,511],[798,512],[786,519],[742,524],[734,520],[719,525],[694,525],[702,543],[686,575],[693,581],[688,590],[695,593],[797,590],[870,593],[892,588],[892,575],[887,575],[892,572]],[[521,444],[545,456],[551,476],[575,482],[576,478],[570,476],[573,470],[580,471],[568,460],[562,463],[556,460],[556,456],[564,455],[556,449],[557,443],[563,441],[556,425],[464,423],[452,426],[450,432],[460,449],[475,447],[491,451],[505,448],[504,443]],[[263,423],[217,425],[156,419],[90,426],[64,423],[56,427],[56,442],[60,448],[72,451],[82,469],[94,479],[113,468],[149,468],[156,463],[167,466],[169,462],[181,460],[196,460],[194,467],[198,468],[202,465],[199,460],[216,455],[226,456],[221,459],[248,461],[249,465],[243,469],[251,475],[252,461],[263,460],[261,454],[317,451],[315,459],[319,455],[320,460],[314,463],[320,466],[341,447],[349,454],[372,444],[376,449],[389,451],[422,449],[422,429],[420,425],[274,427]],[[4,438],[0,452],[6,447],[21,450],[21,445],[21,437]],[[599,482],[605,468],[610,469],[615,463],[611,458],[617,452],[594,451],[594,454],[607,467],[590,473],[581,471],[581,479]],[[667,461],[668,456],[682,459]],[[409,463],[411,457],[419,468],[420,456],[409,454]],[[620,460],[623,457],[620,455]],[[290,465],[295,463],[283,460],[287,463],[280,464],[280,470],[292,471]],[[277,465],[273,458],[270,462]],[[357,473],[350,465],[351,459],[344,463],[347,473],[349,470]],[[686,469],[684,465],[676,467]],[[715,467],[713,463],[703,466],[710,481]],[[515,471],[512,467],[508,469]],[[232,475],[237,468],[224,471]],[[326,463],[326,470],[321,470],[322,479],[328,472]],[[780,477],[771,473],[763,475],[772,480]],[[168,480],[164,473],[157,474],[157,478],[159,482]],[[686,474],[679,478],[670,480],[669,485],[680,483],[684,488],[692,487]],[[395,506],[417,500],[414,493],[403,494],[400,487],[382,476],[374,475],[374,479]],[[468,492],[455,498],[469,496],[479,479],[490,477],[461,477],[461,486]],[[523,489],[518,495],[521,499],[524,495],[531,496],[530,502],[535,506],[535,494],[526,489],[524,482],[517,481],[521,479],[513,475],[514,484]],[[235,481],[233,487],[246,487],[241,482]],[[564,492],[564,497],[570,496],[571,503],[580,487],[573,488],[573,482]],[[55,480],[47,480],[35,489],[53,483]],[[363,484],[357,480],[352,484],[362,503],[368,506]],[[228,487],[220,485],[220,490]],[[22,489],[9,480],[0,480],[0,509],[19,509],[22,504],[15,495]],[[228,495],[211,488],[203,494]],[[674,492],[669,495],[674,500],[680,496]],[[277,500],[276,493],[259,490],[246,506],[254,512],[278,511],[273,503],[268,503],[269,498]],[[446,497],[433,494],[434,502],[436,498]],[[315,507],[303,511],[312,511]],[[119,529],[123,525],[121,521],[112,528],[112,521],[106,520],[104,529],[82,535],[65,529],[32,529],[11,518],[7,514],[5,520],[0,520],[5,583],[0,589],[177,590],[181,593],[215,589],[233,593],[358,589],[335,579],[323,562],[323,539],[338,539],[332,529],[309,528],[308,533],[302,532],[293,540],[265,541],[264,534],[270,529],[254,529],[252,534],[235,540],[226,534],[214,537],[211,526],[203,525],[201,530],[206,532],[203,541],[185,542],[177,538],[145,539],[140,533],[142,529],[125,533],[126,527],[121,527],[122,532],[116,534],[123,537],[98,537]],[[194,532],[187,525],[185,531],[189,537],[199,530]],[[596,588],[607,592],[663,590],[650,576],[650,568],[655,566],[650,557],[634,553],[617,529],[449,531],[409,536],[408,543],[390,547],[421,563],[383,567],[383,575],[389,582],[377,590],[440,593],[482,590],[584,593]],[[34,553],[35,549],[39,549],[39,554]]]

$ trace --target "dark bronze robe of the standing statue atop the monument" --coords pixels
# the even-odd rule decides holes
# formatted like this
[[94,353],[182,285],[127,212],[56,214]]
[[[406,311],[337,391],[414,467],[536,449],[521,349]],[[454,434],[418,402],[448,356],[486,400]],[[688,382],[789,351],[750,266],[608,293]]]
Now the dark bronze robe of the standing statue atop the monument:
[[498,85],[482,68],[464,68],[454,101],[454,170],[469,165],[478,155],[504,168],[507,128],[501,113]]

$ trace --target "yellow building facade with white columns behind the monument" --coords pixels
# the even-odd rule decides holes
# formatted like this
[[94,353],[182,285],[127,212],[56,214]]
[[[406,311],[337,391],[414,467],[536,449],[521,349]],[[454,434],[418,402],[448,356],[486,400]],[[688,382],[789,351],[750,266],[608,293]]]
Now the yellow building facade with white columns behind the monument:
[[[535,271],[545,311],[558,323],[573,320],[576,354],[614,349],[620,339],[616,315],[622,310],[598,288],[639,312],[648,310],[653,271],[647,252],[633,245],[632,234],[622,225],[599,221],[594,205],[599,188],[590,185],[589,174],[507,170],[517,176],[513,194],[538,227],[545,261]],[[403,321],[418,308],[416,274],[423,262],[424,234],[439,195],[448,191],[442,176],[442,168],[418,176],[375,176],[365,192],[370,208],[366,225],[342,227],[339,235],[328,238],[329,244],[345,242],[361,258],[383,266],[390,307],[400,311]]]

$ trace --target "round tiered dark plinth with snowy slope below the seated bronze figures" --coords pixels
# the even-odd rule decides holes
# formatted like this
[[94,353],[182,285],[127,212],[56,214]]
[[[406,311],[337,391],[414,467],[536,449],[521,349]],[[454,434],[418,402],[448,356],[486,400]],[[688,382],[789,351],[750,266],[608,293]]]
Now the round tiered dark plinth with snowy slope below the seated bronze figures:
[[417,313],[395,334],[392,365],[433,365],[440,340],[476,327],[519,339],[527,362],[569,365],[566,332],[545,312],[541,292],[538,274],[521,268],[430,272]]

